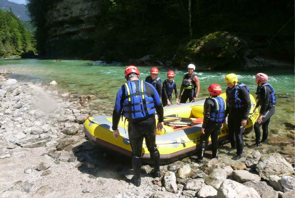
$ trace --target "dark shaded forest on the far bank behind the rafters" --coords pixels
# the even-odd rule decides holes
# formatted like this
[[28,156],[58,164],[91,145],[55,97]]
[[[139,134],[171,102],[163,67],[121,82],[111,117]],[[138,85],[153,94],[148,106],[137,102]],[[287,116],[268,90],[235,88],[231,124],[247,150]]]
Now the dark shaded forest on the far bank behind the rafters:
[[[46,10],[55,2],[27,0],[36,27],[38,52],[46,56]],[[266,0],[99,0],[95,29],[83,45],[67,40],[58,48],[76,46],[79,55],[97,59],[128,60],[152,54],[171,60],[193,39],[229,32],[247,47],[284,60],[294,58],[294,1]],[[63,10],[60,10],[61,12]],[[78,23],[79,19],[71,19]],[[61,25],[61,24],[59,24]],[[71,44],[73,42],[73,44]],[[70,47],[69,47],[70,48]],[[61,50],[76,55],[72,50]],[[185,51],[185,50],[184,50]],[[78,53],[77,53],[78,54]],[[181,52],[179,52],[181,54]],[[86,56],[87,55],[87,56]],[[61,54],[62,56],[62,54]]]

